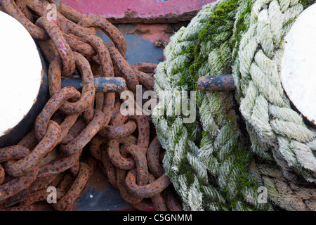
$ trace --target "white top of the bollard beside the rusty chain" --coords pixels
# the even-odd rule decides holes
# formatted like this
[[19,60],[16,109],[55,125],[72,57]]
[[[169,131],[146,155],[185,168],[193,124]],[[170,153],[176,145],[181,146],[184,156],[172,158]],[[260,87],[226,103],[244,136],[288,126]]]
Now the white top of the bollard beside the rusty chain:
[[18,20],[0,11],[0,136],[27,115],[41,86],[41,58]]

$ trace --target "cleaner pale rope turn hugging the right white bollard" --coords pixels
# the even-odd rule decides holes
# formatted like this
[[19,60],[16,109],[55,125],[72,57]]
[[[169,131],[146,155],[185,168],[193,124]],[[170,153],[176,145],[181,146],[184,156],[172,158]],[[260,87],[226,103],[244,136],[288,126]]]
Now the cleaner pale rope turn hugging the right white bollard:
[[[316,158],[312,150],[316,150],[316,133],[291,109],[279,76],[282,39],[303,6],[298,1],[248,4],[249,24],[244,30],[235,30],[242,39],[234,49],[233,75],[253,149],[262,157],[272,153],[285,176],[294,169],[315,183]],[[247,9],[239,11],[239,15],[246,13]]]

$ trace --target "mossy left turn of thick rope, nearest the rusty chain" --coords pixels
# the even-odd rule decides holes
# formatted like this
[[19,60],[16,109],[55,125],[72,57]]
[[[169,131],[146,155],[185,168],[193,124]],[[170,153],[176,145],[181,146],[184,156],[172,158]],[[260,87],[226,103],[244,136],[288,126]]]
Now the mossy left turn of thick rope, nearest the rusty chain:
[[[187,28],[182,28],[171,38],[166,47],[166,61],[157,68],[155,91],[190,90],[195,80],[185,80],[183,86],[179,80],[188,73],[184,65],[189,65],[190,53],[183,50],[198,44],[199,33],[204,29],[209,16],[225,1],[205,6]],[[235,14],[230,8],[230,18]],[[218,29],[226,32],[227,39],[232,35],[233,20]],[[230,31],[229,31],[230,30]],[[209,44],[209,43],[206,43]],[[228,41],[226,41],[228,45]],[[207,48],[205,46],[204,48]],[[217,47],[217,46],[216,46]],[[221,49],[220,49],[221,48]],[[216,50],[215,50],[216,49]],[[211,49],[210,49],[211,50]],[[214,48],[223,51],[223,47]],[[230,58],[231,51],[223,51],[222,57]],[[223,62],[223,61],[221,61]],[[218,66],[218,71],[228,68],[230,61]],[[206,65],[207,66],[207,65]],[[202,70],[208,68],[202,68]],[[177,71],[178,70],[178,71]],[[216,71],[216,72],[218,72]],[[214,75],[216,75],[214,71]],[[217,73],[218,75],[218,73]],[[166,108],[172,107],[174,99],[168,96]],[[183,198],[186,210],[253,210],[264,209],[267,205],[257,203],[257,186],[246,173],[246,165],[251,153],[239,143],[237,118],[232,110],[233,98],[229,93],[198,93],[199,112],[201,114],[202,133],[195,124],[184,124],[183,118],[154,117],[159,139],[166,148],[164,167]],[[158,105],[159,108],[159,105]],[[198,134],[201,133],[201,134]],[[202,135],[202,140],[199,139]],[[200,142],[195,144],[195,141]],[[218,187],[217,187],[218,186]]]

